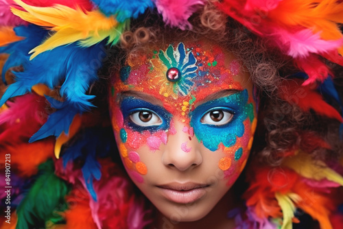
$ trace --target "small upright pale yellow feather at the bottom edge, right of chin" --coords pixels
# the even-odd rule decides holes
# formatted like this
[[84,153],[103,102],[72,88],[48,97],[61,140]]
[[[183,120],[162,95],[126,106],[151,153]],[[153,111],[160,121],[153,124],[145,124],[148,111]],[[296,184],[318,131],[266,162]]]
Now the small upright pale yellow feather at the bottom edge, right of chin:
[[296,193],[283,195],[279,192],[275,193],[275,197],[283,213],[283,224],[281,229],[292,229],[292,219],[294,217],[294,211],[296,210],[293,201],[298,202],[301,198],[296,195]]

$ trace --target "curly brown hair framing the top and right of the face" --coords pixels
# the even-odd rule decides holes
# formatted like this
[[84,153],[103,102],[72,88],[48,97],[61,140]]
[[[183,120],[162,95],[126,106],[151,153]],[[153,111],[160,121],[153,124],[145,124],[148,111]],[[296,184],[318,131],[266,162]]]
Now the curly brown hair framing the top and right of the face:
[[[119,71],[123,61],[133,60],[155,43],[165,44],[173,38],[213,40],[244,63],[250,79],[259,91],[259,121],[252,147],[254,162],[258,160],[279,165],[295,149],[301,149],[321,160],[340,158],[343,147],[338,134],[339,121],[320,117],[314,112],[304,112],[278,96],[281,82],[299,72],[292,58],[228,18],[215,8],[215,2],[208,1],[204,8],[191,16],[189,21],[193,27],[187,31],[165,26],[156,12],[147,12],[132,21],[130,31],[122,34],[120,45],[109,49],[115,55],[109,53],[110,58],[104,67],[106,72],[102,72],[102,75]],[[336,72],[341,70],[335,69]],[[329,145],[318,139],[324,139]]]

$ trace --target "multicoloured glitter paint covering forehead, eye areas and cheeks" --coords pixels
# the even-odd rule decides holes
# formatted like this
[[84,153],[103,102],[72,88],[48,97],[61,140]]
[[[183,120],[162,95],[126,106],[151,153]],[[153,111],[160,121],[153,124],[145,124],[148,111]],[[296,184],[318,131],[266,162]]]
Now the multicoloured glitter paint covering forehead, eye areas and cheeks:
[[[161,144],[167,145],[168,136],[174,134],[185,137],[184,143],[175,145],[183,152],[191,152],[192,147],[187,147],[187,143],[196,136],[206,149],[221,153],[213,167],[224,171],[227,183],[234,182],[234,177],[244,168],[252,145],[251,135],[255,132],[254,124],[256,126],[255,101],[233,77],[241,74],[239,62],[226,56],[221,47],[204,47],[197,42],[188,43],[187,49],[184,43],[152,49],[151,53],[137,56],[137,60],[127,60],[126,66],[116,75],[115,93],[110,97],[113,129],[119,138],[123,163],[137,182],[143,182],[152,171],[147,174],[144,151],[150,149],[150,152],[157,151],[154,156],[161,155],[165,150]],[[174,82],[168,80],[166,74],[170,69],[178,69],[181,77]],[[171,70],[169,73],[176,76]],[[211,94],[230,90],[233,93],[228,96],[204,100]],[[200,122],[214,108],[230,112],[233,119],[225,125]],[[132,114],[142,110],[152,112],[161,122],[135,123]],[[185,134],[176,131],[176,123],[179,131]],[[144,179],[142,175],[146,175]]]

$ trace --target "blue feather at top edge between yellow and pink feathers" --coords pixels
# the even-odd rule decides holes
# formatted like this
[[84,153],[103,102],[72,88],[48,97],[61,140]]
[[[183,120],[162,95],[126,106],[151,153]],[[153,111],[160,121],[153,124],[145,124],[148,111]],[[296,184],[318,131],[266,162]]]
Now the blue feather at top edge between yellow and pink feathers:
[[137,19],[139,14],[143,14],[147,8],[153,8],[154,3],[151,0],[92,0],[99,9],[110,16],[117,14],[117,21],[123,23],[126,19]]

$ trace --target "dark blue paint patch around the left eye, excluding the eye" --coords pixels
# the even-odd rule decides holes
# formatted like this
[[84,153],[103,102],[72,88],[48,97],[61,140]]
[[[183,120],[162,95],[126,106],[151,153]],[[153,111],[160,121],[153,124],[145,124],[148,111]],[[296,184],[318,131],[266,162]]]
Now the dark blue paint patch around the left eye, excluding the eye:
[[[121,101],[120,108],[121,112],[123,112],[124,121],[134,131],[143,132],[145,130],[149,130],[150,132],[156,132],[158,130],[169,129],[171,114],[161,106],[150,104],[149,102],[144,101],[143,99],[137,99],[136,97],[125,97]],[[151,110],[160,117],[162,123],[160,125],[141,126],[131,121],[130,115],[141,110]]]

